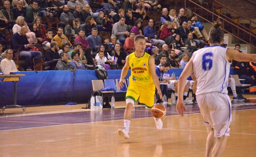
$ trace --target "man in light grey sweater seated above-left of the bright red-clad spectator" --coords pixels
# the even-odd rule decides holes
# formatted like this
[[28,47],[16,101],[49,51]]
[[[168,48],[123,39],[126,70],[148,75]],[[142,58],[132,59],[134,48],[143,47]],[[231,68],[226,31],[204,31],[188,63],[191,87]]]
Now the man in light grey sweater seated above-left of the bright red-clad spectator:
[[118,40],[124,45],[125,36],[128,36],[130,33],[127,31],[127,25],[125,24],[125,17],[120,17],[119,22],[116,22],[113,25],[112,36],[116,36]]

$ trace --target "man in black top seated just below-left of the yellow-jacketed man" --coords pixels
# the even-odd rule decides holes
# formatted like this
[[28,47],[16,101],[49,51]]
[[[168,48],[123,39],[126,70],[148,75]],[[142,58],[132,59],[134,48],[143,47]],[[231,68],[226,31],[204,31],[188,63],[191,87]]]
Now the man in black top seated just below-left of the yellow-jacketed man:
[[51,70],[54,70],[57,62],[60,60],[60,55],[58,53],[59,46],[58,43],[55,41],[51,42],[50,46],[51,48],[45,52],[46,62],[44,63],[44,65],[47,67],[50,66]]

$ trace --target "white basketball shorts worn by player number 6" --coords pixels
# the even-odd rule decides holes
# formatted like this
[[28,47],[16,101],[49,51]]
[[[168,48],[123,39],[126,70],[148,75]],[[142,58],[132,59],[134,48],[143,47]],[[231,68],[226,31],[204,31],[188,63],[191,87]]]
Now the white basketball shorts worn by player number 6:
[[227,94],[207,93],[196,95],[196,100],[206,126],[213,128],[214,137],[229,136],[231,101]]

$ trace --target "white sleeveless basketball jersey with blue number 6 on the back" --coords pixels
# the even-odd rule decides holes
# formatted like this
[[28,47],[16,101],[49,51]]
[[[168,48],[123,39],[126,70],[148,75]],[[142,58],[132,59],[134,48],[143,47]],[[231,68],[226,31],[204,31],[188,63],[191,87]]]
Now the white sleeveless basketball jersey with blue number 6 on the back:
[[197,79],[196,95],[210,92],[228,93],[231,63],[226,60],[226,49],[213,45],[194,52],[191,59]]

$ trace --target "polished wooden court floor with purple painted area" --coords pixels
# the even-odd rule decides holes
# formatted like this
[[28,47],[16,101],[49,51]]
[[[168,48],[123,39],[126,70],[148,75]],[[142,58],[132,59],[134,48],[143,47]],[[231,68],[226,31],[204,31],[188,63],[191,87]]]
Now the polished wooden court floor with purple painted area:
[[[256,156],[256,105],[252,106],[232,111],[224,157]],[[168,107],[162,130],[155,128],[143,107],[135,108],[133,117],[138,118],[131,121],[128,140],[117,135],[123,128],[122,108],[2,116],[0,157],[203,157],[208,130],[196,107],[188,108],[189,114],[180,117],[175,106]],[[92,122],[83,122],[87,119]]]

